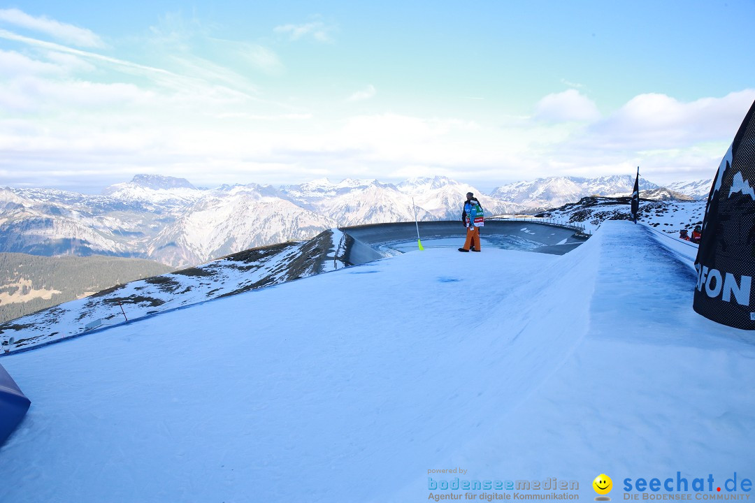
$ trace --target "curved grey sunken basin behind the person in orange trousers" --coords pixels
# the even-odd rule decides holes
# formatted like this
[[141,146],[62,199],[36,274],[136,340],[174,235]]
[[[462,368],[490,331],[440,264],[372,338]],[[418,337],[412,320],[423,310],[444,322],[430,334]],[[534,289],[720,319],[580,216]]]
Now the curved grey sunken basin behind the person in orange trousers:
[[[417,239],[417,226],[414,222],[355,225],[342,227],[340,230],[351,238],[347,239],[344,259],[355,265],[384,258],[378,251],[382,245]],[[459,238],[460,242],[463,242],[465,230],[461,221],[419,222],[419,233],[423,240]],[[514,236],[533,241],[541,246],[532,251],[553,255],[563,255],[574,250],[587,239],[587,236],[576,228],[522,220],[486,220],[482,235]]]

